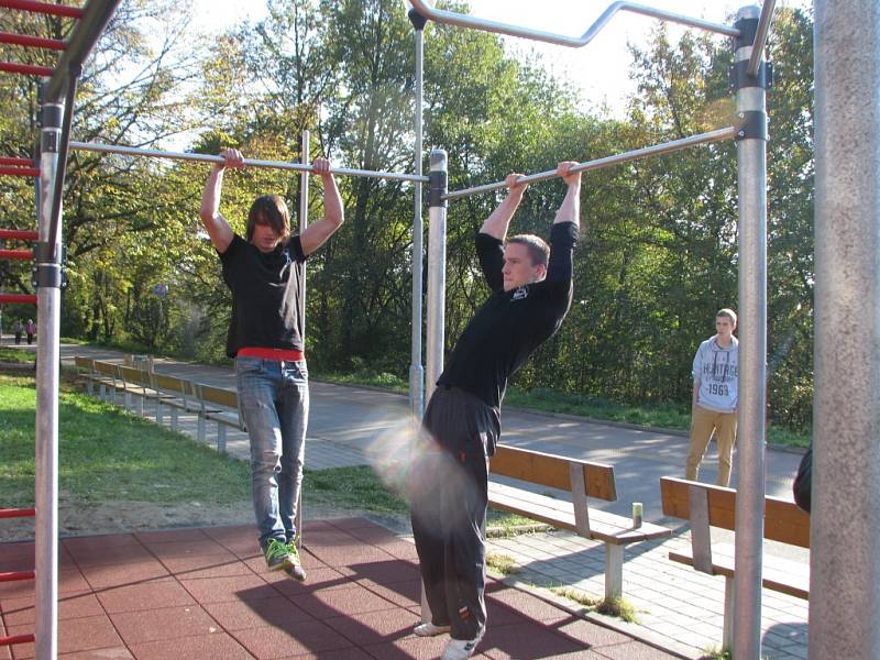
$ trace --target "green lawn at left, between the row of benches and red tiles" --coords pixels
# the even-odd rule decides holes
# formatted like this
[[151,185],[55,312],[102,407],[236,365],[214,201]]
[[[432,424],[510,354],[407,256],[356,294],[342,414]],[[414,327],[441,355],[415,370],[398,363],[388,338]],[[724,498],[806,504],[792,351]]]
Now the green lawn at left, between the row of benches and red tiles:
[[[34,502],[32,377],[0,374],[0,502]],[[58,487],[70,502],[231,504],[250,498],[246,464],[75,392],[58,402]]]

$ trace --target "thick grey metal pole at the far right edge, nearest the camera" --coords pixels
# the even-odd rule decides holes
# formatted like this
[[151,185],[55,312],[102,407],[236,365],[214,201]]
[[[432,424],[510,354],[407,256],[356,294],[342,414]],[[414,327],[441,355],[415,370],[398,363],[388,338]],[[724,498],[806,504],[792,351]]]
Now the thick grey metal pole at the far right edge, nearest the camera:
[[816,0],[810,658],[880,653],[880,4]]

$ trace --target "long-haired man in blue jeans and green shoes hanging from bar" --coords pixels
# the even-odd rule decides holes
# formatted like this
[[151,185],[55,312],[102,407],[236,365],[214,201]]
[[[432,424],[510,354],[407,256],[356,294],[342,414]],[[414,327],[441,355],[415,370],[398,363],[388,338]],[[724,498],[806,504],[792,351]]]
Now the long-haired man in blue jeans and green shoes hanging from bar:
[[251,440],[260,547],[270,570],[305,580],[294,524],[309,411],[299,285],[308,256],[342,224],[342,199],[330,162],[316,158],[315,174],[323,180],[323,218],[292,235],[284,200],[264,195],[251,206],[242,238],[219,209],[223,172],[243,167],[244,160],[234,148],[220,155],[224,163],[208,176],[199,216],[232,290],[227,354],[235,359],[239,403]]

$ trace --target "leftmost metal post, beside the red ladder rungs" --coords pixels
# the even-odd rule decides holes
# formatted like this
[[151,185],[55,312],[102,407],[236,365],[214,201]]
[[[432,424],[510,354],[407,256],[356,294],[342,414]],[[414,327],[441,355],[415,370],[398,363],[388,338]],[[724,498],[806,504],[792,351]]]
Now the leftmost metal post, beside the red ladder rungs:
[[[36,292],[36,528],[35,596],[37,660],[58,652],[58,343],[61,248],[50,245],[53,191],[58,168],[62,103],[42,107],[40,156],[40,242],[35,246]],[[58,216],[61,242],[61,212]]]

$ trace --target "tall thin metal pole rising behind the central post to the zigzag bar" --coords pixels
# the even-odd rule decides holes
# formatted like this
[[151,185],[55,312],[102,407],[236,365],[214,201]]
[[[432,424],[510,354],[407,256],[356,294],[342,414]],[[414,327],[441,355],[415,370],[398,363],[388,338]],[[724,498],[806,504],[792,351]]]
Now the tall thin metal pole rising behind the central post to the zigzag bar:
[[[413,23],[416,34],[416,98],[413,109],[414,124],[416,129],[415,165],[416,174],[421,175],[422,157],[422,74],[424,74],[424,29],[426,20],[415,9],[409,10],[409,21]],[[421,366],[421,331],[422,331],[422,309],[421,309],[421,260],[424,257],[421,223],[421,183],[413,185],[413,345],[410,349],[409,364],[409,409],[415,419],[421,419],[425,409],[425,370]]]

